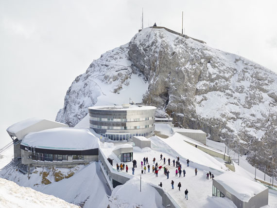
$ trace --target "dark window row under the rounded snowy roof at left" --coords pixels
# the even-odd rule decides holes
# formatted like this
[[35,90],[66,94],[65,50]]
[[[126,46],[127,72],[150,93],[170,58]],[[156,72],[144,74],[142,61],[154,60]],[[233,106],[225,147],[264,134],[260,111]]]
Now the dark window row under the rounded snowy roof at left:
[[61,155],[61,154],[44,154],[32,152],[32,160],[40,161],[73,161],[84,160],[84,155]]

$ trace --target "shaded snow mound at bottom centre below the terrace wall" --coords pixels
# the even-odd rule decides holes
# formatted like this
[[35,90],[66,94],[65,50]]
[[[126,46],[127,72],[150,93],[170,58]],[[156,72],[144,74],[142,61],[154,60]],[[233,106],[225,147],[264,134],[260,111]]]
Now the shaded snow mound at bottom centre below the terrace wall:
[[163,208],[162,197],[146,181],[133,178],[124,185],[117,186],[109,199],[110,208]]

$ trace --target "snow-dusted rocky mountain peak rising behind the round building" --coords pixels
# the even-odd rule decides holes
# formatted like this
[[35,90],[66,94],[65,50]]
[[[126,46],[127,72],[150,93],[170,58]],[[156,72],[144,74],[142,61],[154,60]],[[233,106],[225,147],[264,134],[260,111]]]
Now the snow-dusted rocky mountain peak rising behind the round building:
[[57,121],[74,126],[86,115],[87,107],[103,103],[98,100],[103,93],[99,83],[105,83],[112,94],[124,94],[132,75],[137,75],[148,87],[140,92],[145,93],[143,102],[172,116],[175,125],[201,129],[212,140],[240,142],[241,153],[248,153],[252,162],[262,160],[271,166],[277,160],[277,75],[270,70],[191,38],[152,28],[99,60],[128,69],[110,72],[119,66],[92,62],[70,86]]

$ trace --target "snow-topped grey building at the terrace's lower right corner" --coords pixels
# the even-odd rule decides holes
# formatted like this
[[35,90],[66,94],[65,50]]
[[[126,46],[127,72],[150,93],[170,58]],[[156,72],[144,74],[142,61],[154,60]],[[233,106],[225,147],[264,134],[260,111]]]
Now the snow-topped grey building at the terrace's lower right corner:
[[213,179],[212,195],[226,197],[238,208],[260,208],[268,205],[268,188],[231,171]]

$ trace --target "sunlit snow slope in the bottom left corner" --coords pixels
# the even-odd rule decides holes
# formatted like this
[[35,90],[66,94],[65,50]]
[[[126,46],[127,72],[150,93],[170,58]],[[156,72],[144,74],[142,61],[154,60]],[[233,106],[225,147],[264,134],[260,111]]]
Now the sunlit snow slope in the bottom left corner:
[[12,181],[0,178],[0,207],[2,208],[77,208],[62,199],[20,187]]

